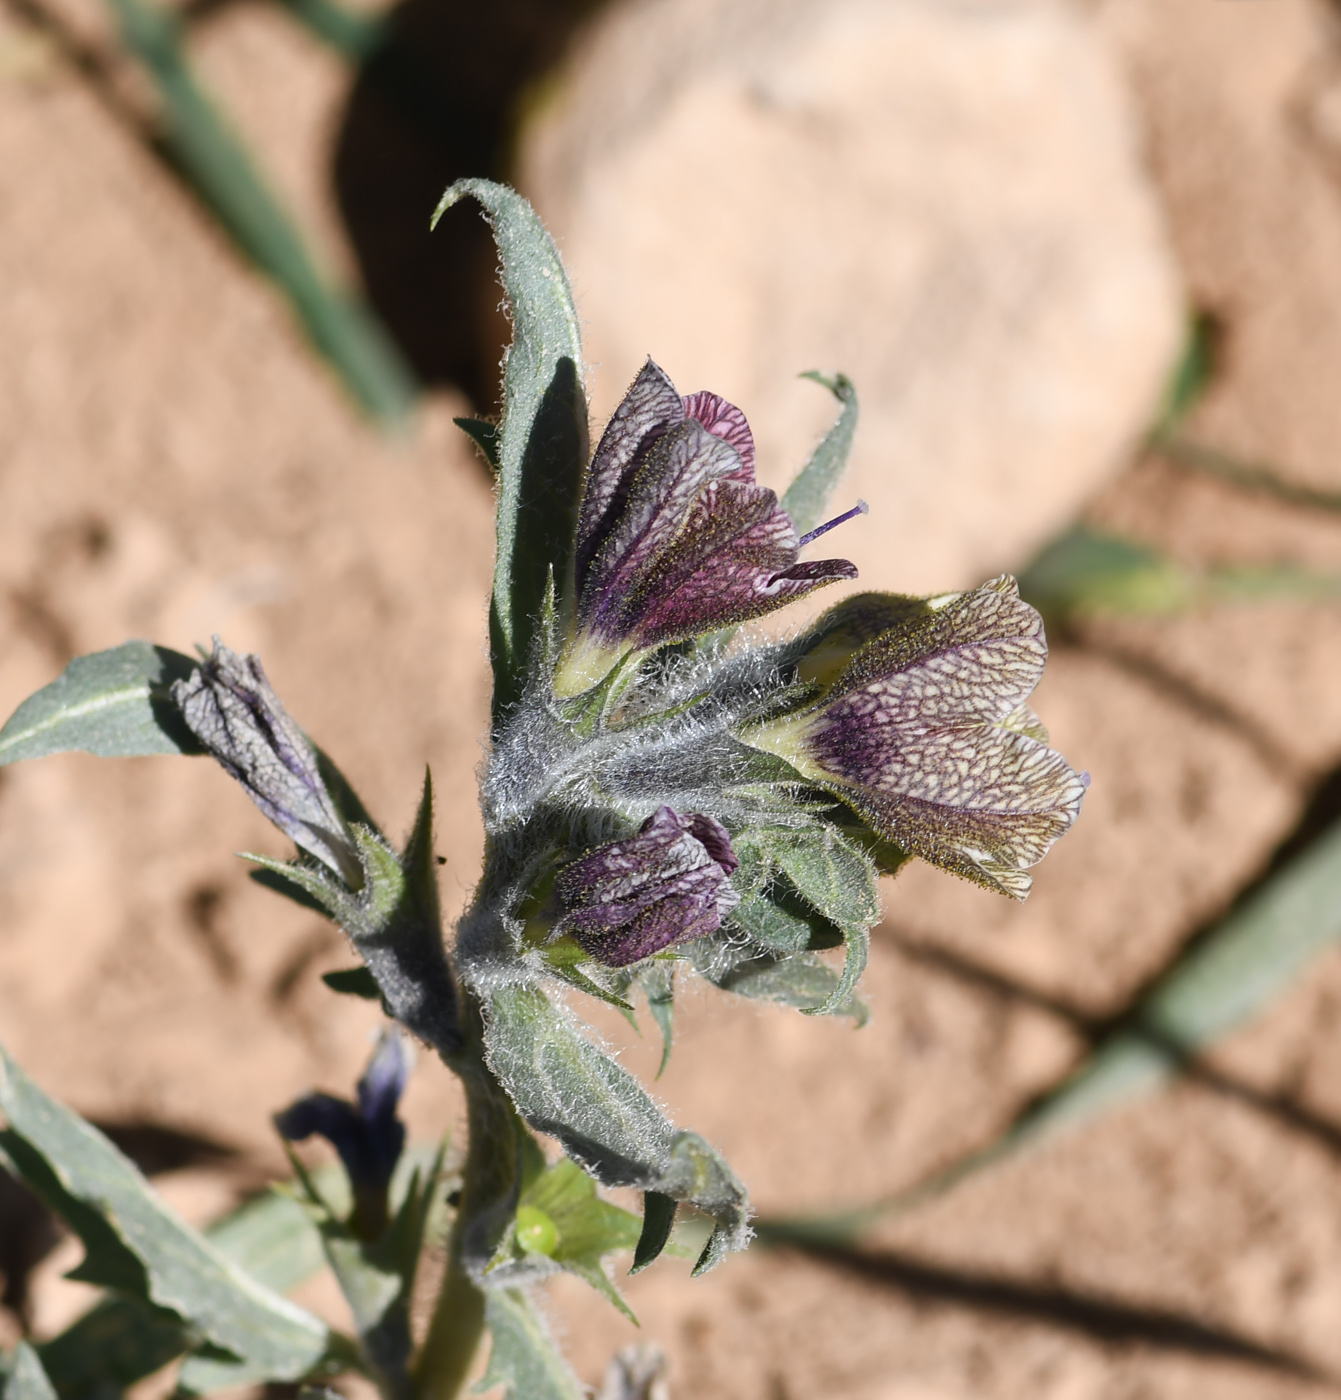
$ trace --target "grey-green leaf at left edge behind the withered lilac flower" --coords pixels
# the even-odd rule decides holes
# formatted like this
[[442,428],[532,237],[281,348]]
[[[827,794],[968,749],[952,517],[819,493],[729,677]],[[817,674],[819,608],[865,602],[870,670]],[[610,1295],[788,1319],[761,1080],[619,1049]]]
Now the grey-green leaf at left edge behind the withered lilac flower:
[[104,759],[202,753],[168,696],[195,668],[190,657],[147,641],[76,657],[0,729],[0,766],[70,749]]

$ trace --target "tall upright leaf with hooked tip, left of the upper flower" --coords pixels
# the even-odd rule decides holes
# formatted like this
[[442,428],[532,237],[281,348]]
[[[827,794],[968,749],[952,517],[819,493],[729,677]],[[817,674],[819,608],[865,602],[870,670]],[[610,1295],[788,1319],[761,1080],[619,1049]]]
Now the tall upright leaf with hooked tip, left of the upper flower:
[[497,433],[498,546],[489,620],[497,728],[521,697],[550,577],[559,602],[568,596],[587,465],[587,396],[577,309],[545,225],[521,195],[484,179],[452,185],[433,223],[468,195],[484,206],[493,228],[512,316]]

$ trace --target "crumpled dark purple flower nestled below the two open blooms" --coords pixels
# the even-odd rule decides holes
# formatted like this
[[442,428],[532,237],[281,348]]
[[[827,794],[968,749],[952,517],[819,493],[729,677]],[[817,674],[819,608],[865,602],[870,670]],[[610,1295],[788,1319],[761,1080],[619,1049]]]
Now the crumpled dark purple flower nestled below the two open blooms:
[[739,903],[739,861],[711,816],[658,808],[637,836],[598,846],[559,872],[563,914],[554,925],[596,962],[626,967],[721,928]]

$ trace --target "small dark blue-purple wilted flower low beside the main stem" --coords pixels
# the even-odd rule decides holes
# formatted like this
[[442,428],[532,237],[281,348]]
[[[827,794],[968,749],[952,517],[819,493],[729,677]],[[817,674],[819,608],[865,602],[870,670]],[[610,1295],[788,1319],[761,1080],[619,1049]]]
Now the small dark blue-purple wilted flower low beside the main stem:
[[405,1042],[399,1032],[386,1030],[358,1081],[357,1103],[309,1093],[274,1116],[286,1141],[323,1137],[340,1154],[354,1197],[350,1228],[361,1239],[378,1239],[386,1229],[391,1179],[405,1151],[396,1106],[409,1075]]

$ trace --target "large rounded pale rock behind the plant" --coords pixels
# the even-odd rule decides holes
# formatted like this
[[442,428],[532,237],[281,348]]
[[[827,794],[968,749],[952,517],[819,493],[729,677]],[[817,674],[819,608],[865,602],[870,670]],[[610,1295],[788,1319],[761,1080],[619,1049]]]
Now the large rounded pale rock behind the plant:
[[834,508],[871,515],[827,553],[924,592],[1019,567],[1149,424],[1181,315],[1137,147],[1062,3],[633,0],[532,116],[521,178],[598,420],[651,354],[746,410],[781,487],[834,410],[798,372],[843,370]]

